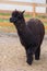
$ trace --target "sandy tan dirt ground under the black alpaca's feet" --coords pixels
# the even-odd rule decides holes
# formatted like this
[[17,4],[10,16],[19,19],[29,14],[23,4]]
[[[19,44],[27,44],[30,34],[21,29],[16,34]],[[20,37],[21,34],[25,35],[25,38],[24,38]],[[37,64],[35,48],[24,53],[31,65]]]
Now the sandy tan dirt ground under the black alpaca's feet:
[[26,55],[17,34],[0,33],[0,71],[47,71],[47,35],[42,44],[40,60],[26,63]]

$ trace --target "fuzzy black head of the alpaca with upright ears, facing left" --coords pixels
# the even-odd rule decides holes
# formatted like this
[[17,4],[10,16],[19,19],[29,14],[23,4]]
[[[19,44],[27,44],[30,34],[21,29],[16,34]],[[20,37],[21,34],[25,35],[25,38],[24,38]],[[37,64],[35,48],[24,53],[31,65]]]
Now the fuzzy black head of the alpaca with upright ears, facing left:
[[13,11],[12,12],[12,16],[10,17],[10,22],[14,23],[14,25],[19,24],[22,19],[23,19],[23,14],[25,11],[21,12],[21,11]]

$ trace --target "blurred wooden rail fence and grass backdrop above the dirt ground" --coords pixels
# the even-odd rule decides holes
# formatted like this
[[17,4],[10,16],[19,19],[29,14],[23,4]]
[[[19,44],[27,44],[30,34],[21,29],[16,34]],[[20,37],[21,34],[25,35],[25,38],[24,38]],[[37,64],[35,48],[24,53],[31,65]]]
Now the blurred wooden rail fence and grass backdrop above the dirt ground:
[[42,20],[47,33],[47,0],[0,0],[0,32],[16,32],[14,25],[9,21],[15,9],[25,10],[24,17],[26,21],[31,17]]

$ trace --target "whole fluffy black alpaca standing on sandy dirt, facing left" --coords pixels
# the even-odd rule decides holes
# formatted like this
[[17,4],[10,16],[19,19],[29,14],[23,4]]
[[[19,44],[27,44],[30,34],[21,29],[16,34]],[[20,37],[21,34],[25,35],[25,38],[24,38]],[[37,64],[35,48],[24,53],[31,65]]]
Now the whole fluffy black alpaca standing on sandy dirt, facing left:
[[26,50],[27,63],[32,64],[33,55],[35,55],[36,60],[39,60],[40,45],[45,35],[45,28],[38,19],[31,19],[28,22],[25,22],[23,13],[24,11],[20,12],[15,10],[12,12],[10,22],[15,25],[21,44]]

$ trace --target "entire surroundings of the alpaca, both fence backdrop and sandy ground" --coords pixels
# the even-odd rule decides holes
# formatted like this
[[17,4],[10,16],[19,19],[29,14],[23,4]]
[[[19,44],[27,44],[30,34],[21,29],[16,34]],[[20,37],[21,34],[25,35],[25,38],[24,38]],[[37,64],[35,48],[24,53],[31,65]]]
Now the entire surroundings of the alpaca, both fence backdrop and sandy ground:
[[[40,60],[26,63],[25,49],[20,43],[16,28],[10,23],[14,10],[25,10],[24,17],[39,19],[45,25]],[[47,0],[0,0],[0,71],[47,71]]]

